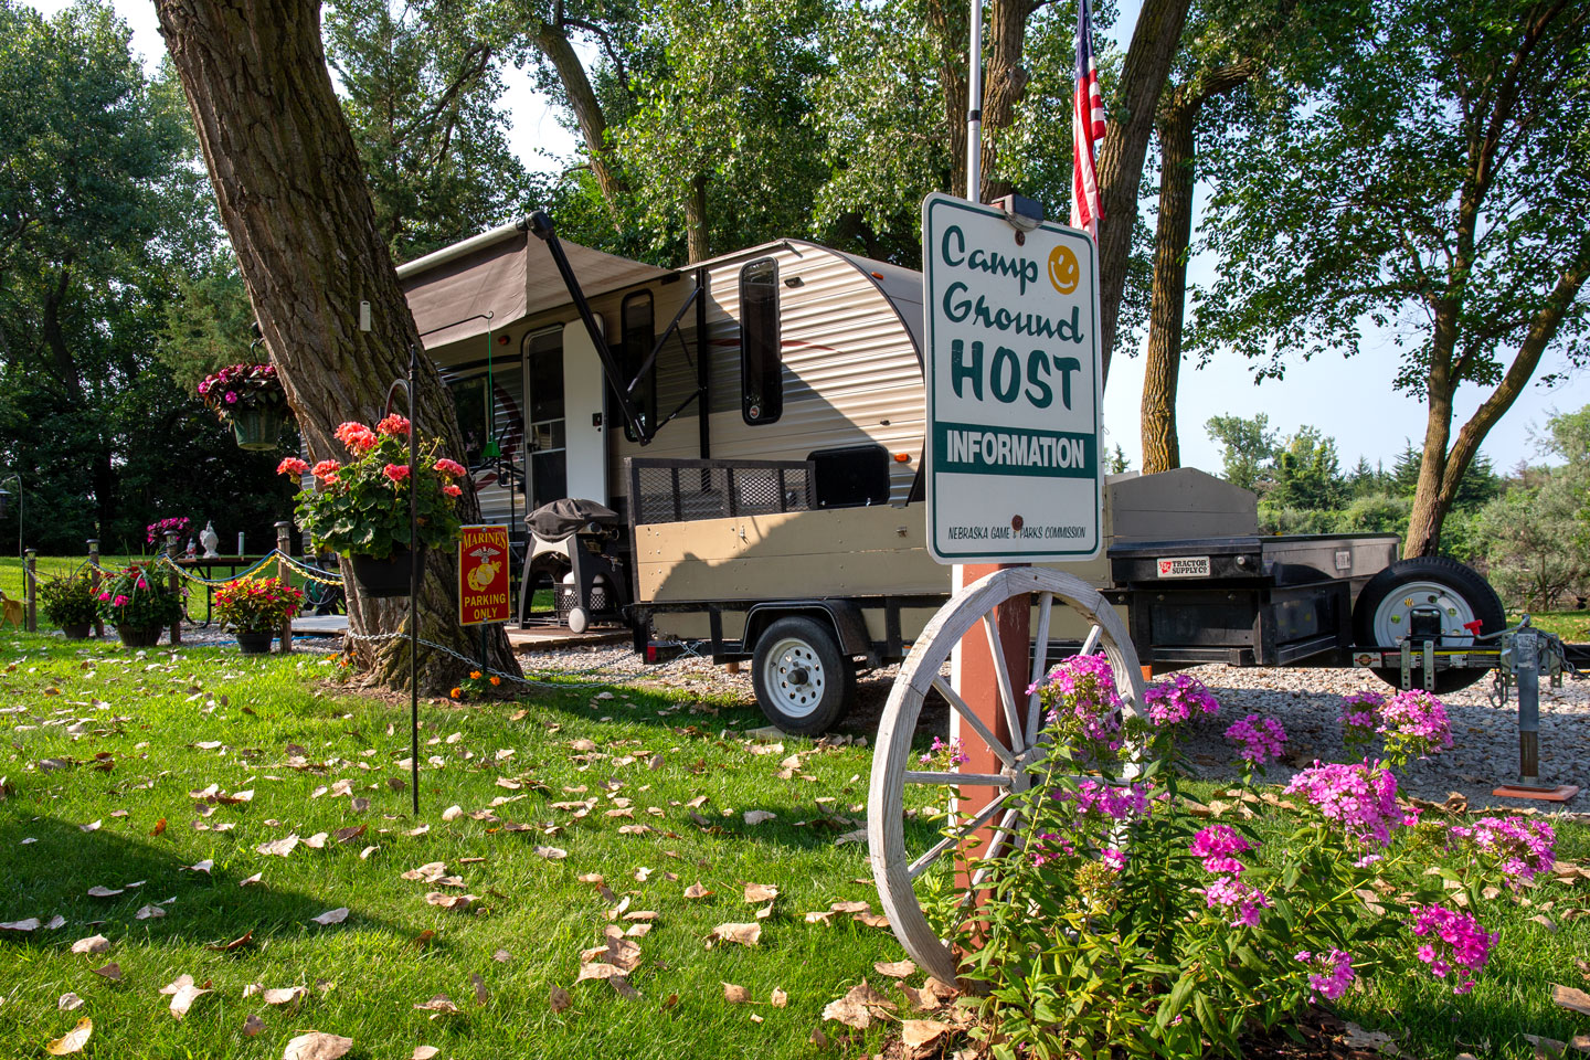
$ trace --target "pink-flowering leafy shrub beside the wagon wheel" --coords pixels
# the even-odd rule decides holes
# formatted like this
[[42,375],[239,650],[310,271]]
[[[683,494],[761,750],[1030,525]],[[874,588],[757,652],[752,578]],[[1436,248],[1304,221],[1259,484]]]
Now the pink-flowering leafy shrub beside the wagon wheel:
[[1261,796],[1255,771],[1285,734],[1248,715],[1227,737],[1247,763],[1242,799],[1282,817],[1285,838],[1267,842],[1178,790],[1177,736],[1213,714],[1207,690],[1159,690],[1154,721],[1121,709],[1108,666],[1078,658],[1038,693],[1051,742],[1013,796],[1019,842],[979,861],[976,912],[940,923],[987,987],[979,1033],[995,1057],[1237,1054],[1240,1035],[1382,973],[1464,993],[1496,944],[1485,887],[1552,863],[1545,825],[1421,823],[1379,761],[1315,763]]

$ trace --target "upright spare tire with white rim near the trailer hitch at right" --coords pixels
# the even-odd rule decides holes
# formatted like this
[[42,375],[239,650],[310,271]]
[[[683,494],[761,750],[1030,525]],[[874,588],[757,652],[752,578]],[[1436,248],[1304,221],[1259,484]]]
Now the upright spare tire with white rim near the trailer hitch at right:
[[[1415,607],[1441,610],[1442,647],[1468,647],[1474,637],[1464,626],[1479,621],[1480,633],[1498,633],[1507,625],[1501,599],[1490,583],[1471,567],[1444,556],[1398,559],[1369,578],[1353,604],[1353,639],[1361,645],[1393,645],[1407,636]],[[1436,691],[1448,693],[1483,680],[1488,669],[1466,667],[1436,672]],[[1401,688],[1399,667],[1379,667],[1375,677]],[[1414,687],[1425,687],[1425,667],[1414,666]]]

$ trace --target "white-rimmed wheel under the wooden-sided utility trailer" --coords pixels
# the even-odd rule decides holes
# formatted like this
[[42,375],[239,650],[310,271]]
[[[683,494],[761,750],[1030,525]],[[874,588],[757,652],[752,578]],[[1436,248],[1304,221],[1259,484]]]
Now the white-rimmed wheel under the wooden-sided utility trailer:
[[816,736],[844,714],[855,674],[830,631],[811,618],[779,618],[757,639],[750,679],[768,721]]

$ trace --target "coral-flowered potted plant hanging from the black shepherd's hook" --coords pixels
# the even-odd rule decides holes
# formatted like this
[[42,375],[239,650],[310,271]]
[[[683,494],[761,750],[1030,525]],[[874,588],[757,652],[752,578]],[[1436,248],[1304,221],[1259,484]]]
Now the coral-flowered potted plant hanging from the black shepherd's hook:
[[[409,421],[386,416],[375,429],[343,423],[337,440],[348,448],[347,462],[321,461],[312,469],[289,456],[277,470],[315,475],[315,486],[299,493],[299,524],[316,545],[348,556],[353,577],[366,596],[405,596],[413,548],[437,548],[458,537],[455,512],[466,475],[463,464],[437,455],[440,442],[420,448],[417,467],[409,466]],[[409,536],[410,496],[418,501],[417,537]]]

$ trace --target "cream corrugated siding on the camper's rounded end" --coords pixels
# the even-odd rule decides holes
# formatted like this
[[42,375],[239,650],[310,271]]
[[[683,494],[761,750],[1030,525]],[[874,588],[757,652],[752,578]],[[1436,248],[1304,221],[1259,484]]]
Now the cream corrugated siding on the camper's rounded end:
[[[739,270],[760,257],[779,264],[784,413],[776,423],[752,426],[741,416]],[[790,277],[800,277],[801,286],[782,283]],[[922,453],[922,370],[900,315],[857,265],[820,246],[779,245],[714,267],[708,342],[714,458],[805,459],[814,450],[876,442],[911,458],[890,461],[890,501],[905,501]],[[684,394],[690,388],[660,380],[658,389]],[[666,413],[677,400],[658,404]],[[623,456],[696,456],[696,447],[695,418],[681,416],[644,450],[620,442],[614,470]],[[620,478],[612,475],[622,491]]]

